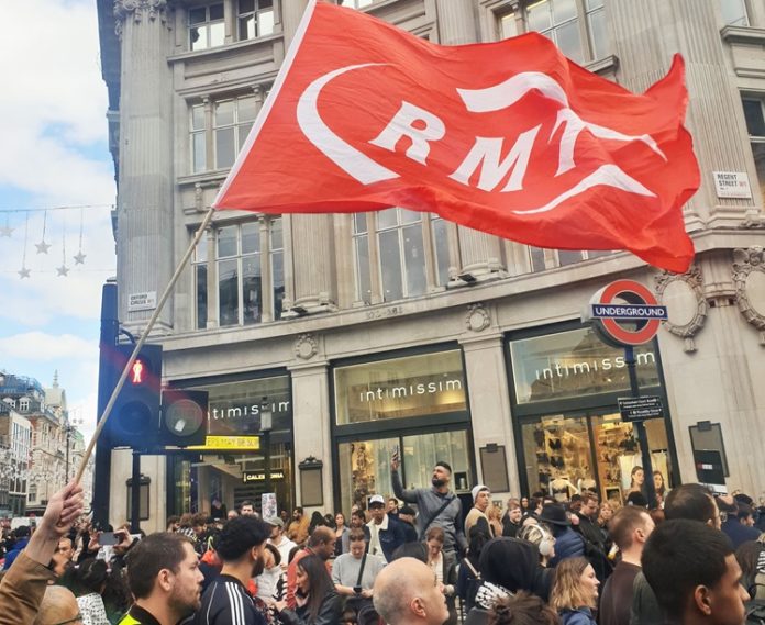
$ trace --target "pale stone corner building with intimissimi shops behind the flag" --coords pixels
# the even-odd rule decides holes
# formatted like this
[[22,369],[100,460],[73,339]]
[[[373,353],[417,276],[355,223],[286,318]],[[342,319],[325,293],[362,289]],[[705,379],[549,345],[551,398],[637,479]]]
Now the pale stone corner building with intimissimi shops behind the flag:
[[[681,276],[625,253],[535,249],[436,215],[215,214],[154,341],[168,386],[208,389],[231,448],[147,456],[148,523],[271,490],[280,507],[348,511],[389,493],[399,446],[421,484],[501,495],[595,488],[621,499],[640,464],[617,398],[623,354],[580,322],[595,291],[637,280],[669,308],[639,350],[665,484],[720,451],[731,489],[760,496],[765,446],[765,5],[750,0],[344,0],[440,44],[537,30],[590,70],[642,91],[685,57],[701,188],[685,207],[697,256]],[[119,311],[140,332],[267,97],[306,0],[99,0],[118,180]],[[307,172],[291,172],[295,176]],[[732,176],[732,178],[730,178]],[[749,181],[731,192],[725,180]],[[745,189],[745,185],[744,185]],[[259,415],[273,415],[264,431]],[[253,438],[252,435],[257,435]],[[257,447],[257,448],[256,448]],[[302,466],[302,469],[301,469]],[[320,479],[313,479],[315,468]],[[126,513],[115,450],[111,516]]]

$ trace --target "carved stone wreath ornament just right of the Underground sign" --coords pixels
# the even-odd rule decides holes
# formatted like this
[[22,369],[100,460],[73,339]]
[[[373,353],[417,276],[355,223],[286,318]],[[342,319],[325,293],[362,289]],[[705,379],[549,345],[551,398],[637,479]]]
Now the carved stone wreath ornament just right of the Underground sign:
[[[658,301],[667,306],[669,319],[662,322],[665,330],[685,341],[684,351],[696,351],[694,337],[703,327],[708,312],[701,269],[691,265],[685,274],[662,271],[654,279]],[[676,306],[668,305],[672,300]]]

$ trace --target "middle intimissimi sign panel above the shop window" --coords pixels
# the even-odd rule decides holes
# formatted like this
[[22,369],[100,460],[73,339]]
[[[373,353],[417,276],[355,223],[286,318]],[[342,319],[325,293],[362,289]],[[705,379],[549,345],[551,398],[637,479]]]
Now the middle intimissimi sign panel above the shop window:
[[458,349],[334,369],[337,425],[467,410]]

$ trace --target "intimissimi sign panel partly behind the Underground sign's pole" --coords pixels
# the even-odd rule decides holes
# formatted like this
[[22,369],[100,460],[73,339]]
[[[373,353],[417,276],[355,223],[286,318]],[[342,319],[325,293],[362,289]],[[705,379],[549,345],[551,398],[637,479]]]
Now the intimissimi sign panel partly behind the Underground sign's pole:
[[[519,404],[630,389],[624,351],[590,328],[512,341],[509,348]],[[635,368],[641,387],[659,384],[653,344],[635,347]]]

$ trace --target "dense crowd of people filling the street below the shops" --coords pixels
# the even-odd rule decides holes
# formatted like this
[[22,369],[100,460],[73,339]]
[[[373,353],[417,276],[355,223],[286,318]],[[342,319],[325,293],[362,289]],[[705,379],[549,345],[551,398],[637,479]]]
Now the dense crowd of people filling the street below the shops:
[[[663,625],[765,616],[765,514],[688,483],[653,510],[586,491],[505,510],[477,484],[463,511],[452,470],[366,510],[168,518],[148,536],[93,526],[67,486],[34,532],[16,531],[0,625]],[[636,503],[635,503],[636,501]],[[765,623],[765,620],[762,621]]]

